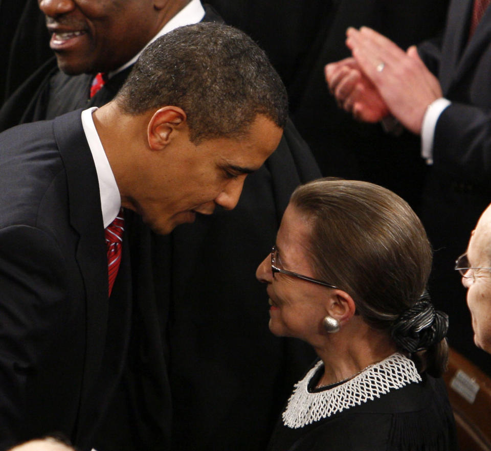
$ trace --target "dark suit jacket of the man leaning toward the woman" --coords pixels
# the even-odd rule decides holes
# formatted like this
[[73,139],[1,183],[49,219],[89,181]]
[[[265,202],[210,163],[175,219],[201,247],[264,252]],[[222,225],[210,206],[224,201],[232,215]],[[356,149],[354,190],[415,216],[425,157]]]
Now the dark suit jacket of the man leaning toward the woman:
[[128,258],[110,304],[80,111],[6,131],[0,148],[0,449],[52,432],[85,449],[126,354]]

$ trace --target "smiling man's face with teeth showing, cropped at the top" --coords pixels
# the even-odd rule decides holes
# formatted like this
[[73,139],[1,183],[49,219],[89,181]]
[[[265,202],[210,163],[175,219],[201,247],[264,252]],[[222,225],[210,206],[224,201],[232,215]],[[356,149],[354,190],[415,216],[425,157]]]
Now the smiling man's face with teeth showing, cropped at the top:
[[118,69],[161,28],[151,0],[38,1],[50,47],[69,75]]

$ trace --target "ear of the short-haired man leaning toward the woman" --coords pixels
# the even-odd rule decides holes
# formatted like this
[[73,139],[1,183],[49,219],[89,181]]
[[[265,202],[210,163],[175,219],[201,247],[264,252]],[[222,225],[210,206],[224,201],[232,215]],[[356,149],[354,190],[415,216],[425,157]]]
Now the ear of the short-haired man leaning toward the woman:
[[164,106],[155,111],[148,122],[148,145],[152,150],[160,150],[174,138],[177,130],[186,125],[187,116],[178,106]]

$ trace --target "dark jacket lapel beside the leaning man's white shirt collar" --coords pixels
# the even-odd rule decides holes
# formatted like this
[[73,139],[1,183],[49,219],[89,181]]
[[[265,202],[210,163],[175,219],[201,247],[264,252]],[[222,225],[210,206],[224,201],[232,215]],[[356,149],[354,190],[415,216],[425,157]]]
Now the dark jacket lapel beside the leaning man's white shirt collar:
[[68,179],[70,223],[79,233],[76,259],[86,299],[86,355],[82,399],[99,373],[108,315],[107,260],[99,182],[80,118],[81,110],[54,120]]

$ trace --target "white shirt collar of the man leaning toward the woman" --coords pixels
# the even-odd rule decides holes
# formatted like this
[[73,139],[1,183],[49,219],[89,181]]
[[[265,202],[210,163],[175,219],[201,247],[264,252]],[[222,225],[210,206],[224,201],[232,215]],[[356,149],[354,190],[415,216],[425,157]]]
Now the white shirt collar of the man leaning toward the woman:
[[96,166],[97,178],[99,180],[99,194],[101,196],[102,220],[104,229],[114,221],[121,208],[121,196],[118,185],[114,178],[113,170],[107,161],[106,153],[102,147],[101,140],[97,134],[92,113],[97,107],[82,111],[82,127],[87,138],[88,147],[92,152],[94,165]]

